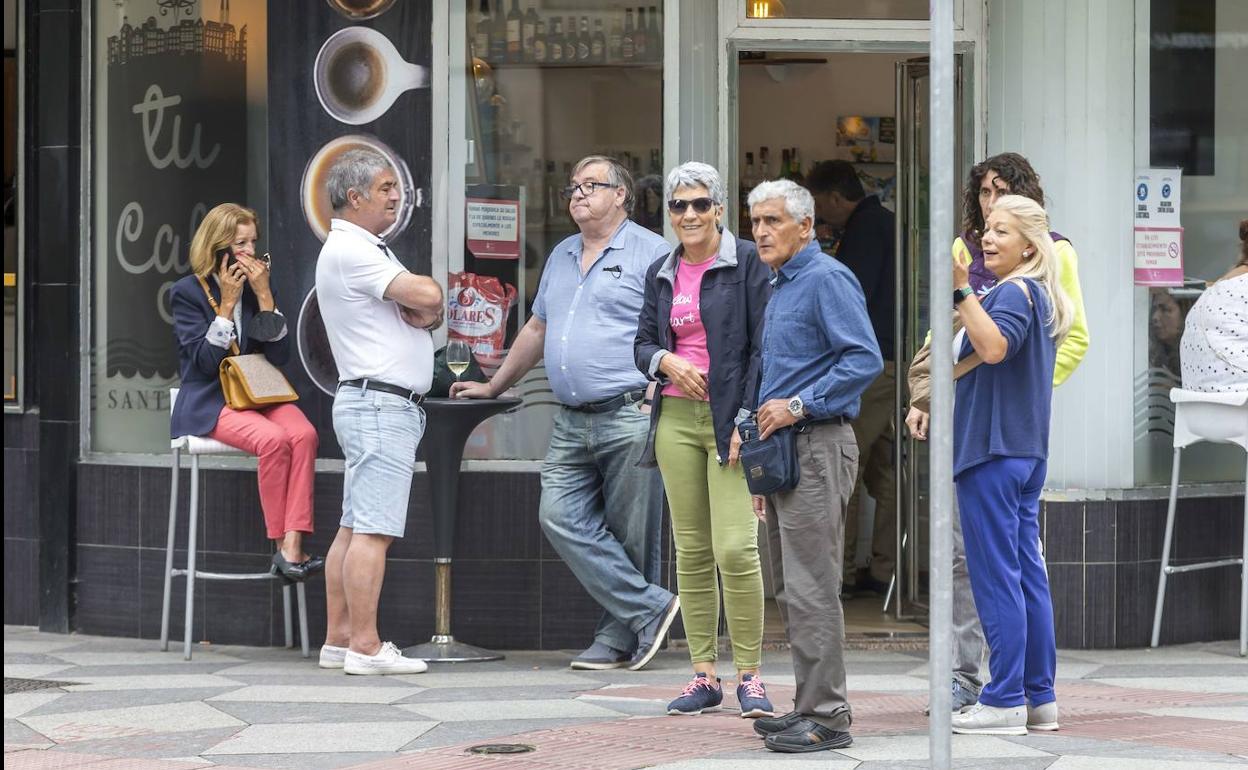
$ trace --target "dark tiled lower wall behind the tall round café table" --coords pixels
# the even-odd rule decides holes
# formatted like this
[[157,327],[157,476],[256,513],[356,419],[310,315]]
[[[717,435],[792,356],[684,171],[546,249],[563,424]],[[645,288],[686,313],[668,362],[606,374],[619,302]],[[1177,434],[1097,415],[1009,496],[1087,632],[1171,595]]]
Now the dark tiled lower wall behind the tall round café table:
[[[160,636],[171,472],[116,465],[79,467],[77,626],[87,634]],[[175,560],[186,562],[190,472],[183,469]],[[585,646],[598,605],[545,542],[538,525],[540,484],[532,473],[466,473],[452,574],[453,631],[463,641],[499,649]],[[323,554],[337,529],[342,475],[316,480],[316,533],[306,543]],[[666,535],[665,535],[666,537]],[[201,564],[221,572],[267,569],[253,472],[203,470]],[[665,564],[669,582],[674,575]],[[185,582],[175,580],[172,631],[182,638]],[[324,636],[324,584],[308,584],[313,644]],[[413,482],[407,537],[391,549],[381,600],[383,638],[399,644],[433,634],[432,517],[426,477]],[[276,583],[210,583],[196,588],[196,634],[220,644],[281,644]]]

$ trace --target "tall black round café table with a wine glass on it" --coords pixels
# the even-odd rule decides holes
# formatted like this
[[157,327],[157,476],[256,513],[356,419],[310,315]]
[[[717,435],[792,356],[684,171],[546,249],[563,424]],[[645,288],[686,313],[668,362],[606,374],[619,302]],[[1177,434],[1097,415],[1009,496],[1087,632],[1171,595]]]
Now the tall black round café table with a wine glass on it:
[[456,641],[451,634],[451,557],[454,554],[456,514],[459,512],[459,465],[468,436],[484,422],[520,403],[519,398],[427,398],[428,424],[421,443],[429,474],[433,508],[434,623],[433,638],[403,650],[408,658],[434,663],[502,660],[503,655]]

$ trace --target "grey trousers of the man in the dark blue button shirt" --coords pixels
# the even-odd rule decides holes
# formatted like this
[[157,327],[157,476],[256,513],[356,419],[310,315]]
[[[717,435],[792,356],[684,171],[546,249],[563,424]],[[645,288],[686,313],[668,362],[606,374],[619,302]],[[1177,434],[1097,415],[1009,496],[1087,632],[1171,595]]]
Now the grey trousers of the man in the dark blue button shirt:
[[849,730],[841,558],[845,510],[857,479],[854,429],[812,426],[797,434],[797,488],[768,498],[771,577],[797,680],[794,710],[834,730]]

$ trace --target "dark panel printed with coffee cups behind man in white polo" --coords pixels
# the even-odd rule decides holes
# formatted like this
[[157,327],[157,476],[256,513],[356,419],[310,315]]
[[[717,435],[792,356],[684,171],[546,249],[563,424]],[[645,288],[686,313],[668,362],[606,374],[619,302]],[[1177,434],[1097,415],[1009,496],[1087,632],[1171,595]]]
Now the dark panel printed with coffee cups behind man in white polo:
[[[382,237],[408,270],[429,275],[432,4],[417,0],[270,0],[268,245],[275,292],[293,319],[286,376],[317,427],[322,457],[341,458],[331,409],[338,382],[316,298],[316,261],[333,212],[326,181],[342,154],[381,152],[399,180],[399,216]],[[281,262],[282,270],[277,270]]]

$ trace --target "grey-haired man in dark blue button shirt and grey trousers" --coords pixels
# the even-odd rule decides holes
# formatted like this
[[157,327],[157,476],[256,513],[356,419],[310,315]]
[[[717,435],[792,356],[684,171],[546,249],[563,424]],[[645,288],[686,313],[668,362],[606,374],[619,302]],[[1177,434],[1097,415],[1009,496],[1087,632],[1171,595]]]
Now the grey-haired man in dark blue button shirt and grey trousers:
[[844,749],[852,743],[845,686],[841,555],[845,508],[857,478],[850,422],[884,368],[866,302],[847,267],[814,240],[815,201],[789,180],[749,196],[759,257],[773,270],[763,323],[760,436],[799,432],[795,489],[755,498],[765,510],[776,602],[789,631],[797,694],[794,710],[755,720],[766,748],[781,753]]

